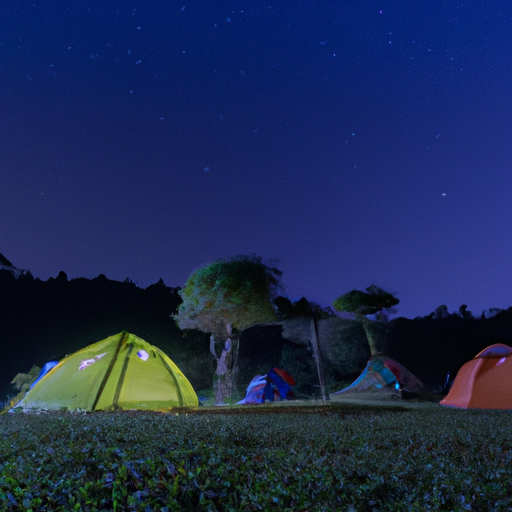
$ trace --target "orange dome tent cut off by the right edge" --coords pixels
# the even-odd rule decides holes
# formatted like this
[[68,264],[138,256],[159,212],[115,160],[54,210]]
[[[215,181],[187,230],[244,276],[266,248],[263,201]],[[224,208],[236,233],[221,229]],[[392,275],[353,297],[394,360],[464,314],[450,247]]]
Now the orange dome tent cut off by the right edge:
[[512,409],[512,347],[497,343],[457,373],[441,405],[463,409]]

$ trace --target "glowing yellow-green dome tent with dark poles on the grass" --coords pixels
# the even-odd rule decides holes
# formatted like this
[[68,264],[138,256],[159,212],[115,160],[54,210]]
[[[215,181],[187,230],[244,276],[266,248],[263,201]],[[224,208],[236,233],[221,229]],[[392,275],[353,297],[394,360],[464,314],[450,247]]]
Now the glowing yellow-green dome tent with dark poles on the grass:
[[190,382],[169,357],[123,331],[65,357],[16,408],[112,411],[197,405]]

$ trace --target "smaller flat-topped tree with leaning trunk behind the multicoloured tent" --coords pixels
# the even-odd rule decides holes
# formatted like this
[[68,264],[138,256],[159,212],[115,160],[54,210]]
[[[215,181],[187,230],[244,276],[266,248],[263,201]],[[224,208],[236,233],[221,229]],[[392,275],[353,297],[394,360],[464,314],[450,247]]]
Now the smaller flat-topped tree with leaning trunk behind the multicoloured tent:
[[385,340],[382,336],[381,326],[377,322],[370,320],[367,315],[377,314],[379,320],[385,320],[386,315],[384,311],[393,312],[393,307],[399,302],[393,294],[384,291],[378,286],[371,285],[366,288],[366,292],[352,290],[338,297],[332,305],[338,311],[355,313],[356,320],[363,325],[373,357],[384,352]]

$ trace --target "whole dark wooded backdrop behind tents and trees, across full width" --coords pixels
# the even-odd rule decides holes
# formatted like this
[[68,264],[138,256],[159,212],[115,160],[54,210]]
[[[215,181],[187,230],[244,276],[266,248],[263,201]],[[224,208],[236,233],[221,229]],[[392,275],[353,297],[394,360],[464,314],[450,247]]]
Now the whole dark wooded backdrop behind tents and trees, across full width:
[[[42,368],[88,345],[124,330],[165,352],[183,371],[198,394],[211,389],[215,361],[209,335],[181,331],[171,318],[180,304],[178,289],[160,280],[147,288],[100,275],[48,281],[30,275],[16,279],[0,270],[0,401],[16,394],[11,384],[18,373]],[[240,395],[256,376],[284,368],[297,381],[302,398],[321,398],[309,343],[308,301],[279,304],[288,319],[255,325],[240,339]],[[308,316],[309,315],[309,316]],[[365,368],[370,352],[361,327],[336,316],[316,321],[328,392],[351,384]],[[474,355],[496,342],[512,343],[512,309],[489,317],[463,318],[431,313],[416,319],[397,317],[385,325],[388,354],[433,392]],[[449,374],[449,375],[448,375]]]

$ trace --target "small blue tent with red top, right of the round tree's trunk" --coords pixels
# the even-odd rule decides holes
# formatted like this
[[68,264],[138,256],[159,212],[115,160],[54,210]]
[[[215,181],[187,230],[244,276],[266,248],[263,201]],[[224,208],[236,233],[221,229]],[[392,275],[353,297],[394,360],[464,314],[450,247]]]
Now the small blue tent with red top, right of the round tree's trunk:
[[295,395],[291,386],[295,379],[281,368],[272,368],[266,375],[256,375],[239,404],[262,404],[279,400],[289,400]]

